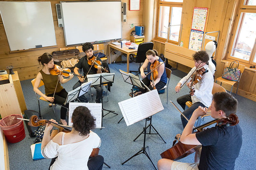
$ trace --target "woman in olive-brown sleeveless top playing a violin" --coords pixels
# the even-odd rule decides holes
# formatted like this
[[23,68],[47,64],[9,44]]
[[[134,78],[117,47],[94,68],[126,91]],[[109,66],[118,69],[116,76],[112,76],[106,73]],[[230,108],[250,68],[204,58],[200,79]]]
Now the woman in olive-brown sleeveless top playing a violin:
[[[74,77],[74,75],[69,74],[69,78],[67,79],[64,79],[62,75],[51,75],[50,69],[54,66],[54,63],[53,63],[53,57],[49,53],[44,53],[43,55],[38,57],[37,60],[39,64],[41,63],[43,65],[43,69],[40,70],[36,76],[34,91],[38,95],[46,99],[47,101],[51,103],[57,103],[68,108],[68,104],[64,105],[68,96],[68,92],[66,92],[66,90],[60,85],[60,83],[63,84],[68,82]],[[58,79],[59,79],[59,82],[58,82]],[[45,94],[38,89],[41,80],[44,82]],[[56,88],[56,92],[55,92],[55,88]],[[55,95],[53,96],[54,92],[55,92]],[[67,109],[64,107],[61,107],[60,109],[60,124],[67,125],[67,122],[66,122]]]

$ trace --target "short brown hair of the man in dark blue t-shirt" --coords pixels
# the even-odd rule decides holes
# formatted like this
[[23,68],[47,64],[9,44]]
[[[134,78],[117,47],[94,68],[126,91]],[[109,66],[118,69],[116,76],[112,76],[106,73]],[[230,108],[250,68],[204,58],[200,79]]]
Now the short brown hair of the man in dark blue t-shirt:
[[216,92],[212,96],[212,100],[214,101],[216,111],[222,110],[226,117],[228,117],[232,113],[236,113],[237,109],[237,100],[229,94],[228,92]]

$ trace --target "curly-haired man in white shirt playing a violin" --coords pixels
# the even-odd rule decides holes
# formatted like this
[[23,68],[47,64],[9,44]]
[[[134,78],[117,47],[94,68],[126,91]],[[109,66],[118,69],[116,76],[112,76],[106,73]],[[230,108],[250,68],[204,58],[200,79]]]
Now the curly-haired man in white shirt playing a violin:
[[[212,87],[213,87],[213,76],[212,72],[208,68],[208,60],[209,56],[206,51],[198,51],[193,54],[193,60],[195,61],[195,67],[193,67],[187,76],[183,77],[180,82],[176,85],[175,91],[179,92],[182,85],[186,83],[188,88],[191,87],[192,82],[191,80],[192,73],[197,69],[204,68],[205,72],[202,74],[202,78],[199,80],[198,83],[192,85],[190,88],[192,91],[189,94],[183,95],[177,99],[177,102],[180,106],[184,109],[183,114],[190,119],[192,113],[198,106],[202,107],[209,107],[212,101]],[[188,80],[188,81],[187,81]],[[186,102],[191,101],[192,106],[185,110]],[[183,128],[185,128],[188,121],[181,115],[181,122]]]

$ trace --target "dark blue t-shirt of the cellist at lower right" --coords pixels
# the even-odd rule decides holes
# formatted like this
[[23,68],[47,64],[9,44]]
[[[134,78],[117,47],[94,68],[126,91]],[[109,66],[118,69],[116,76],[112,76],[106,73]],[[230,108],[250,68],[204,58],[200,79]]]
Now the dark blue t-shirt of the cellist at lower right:
[[242,129],[236,126],[215,126],[196,133],[202,144],[200,170],[233,170],[242,146]]

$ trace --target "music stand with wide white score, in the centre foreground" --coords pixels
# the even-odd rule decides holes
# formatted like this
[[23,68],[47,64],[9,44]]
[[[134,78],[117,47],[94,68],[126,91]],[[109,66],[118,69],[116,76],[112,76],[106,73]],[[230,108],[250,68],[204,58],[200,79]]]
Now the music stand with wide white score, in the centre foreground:
[[[149,102],[147,102],[145,105],[145,99],[150,101],[149,100],[150,97],[153,97],[155,99],[154,105],[151,105]],[[134,103],[134,102],[136,102],[137,105],[135,105],[134,107],[131,108],[130,104]],[[140,108],[139,106],[141,106],[140,105],[141,103],[143,103],[145,105],[145,107],[148,109]],[[124,116],[124,120],[125,120],[127,126],[132,125],[133,123],[139,122],[140,120],[147,119],[148,117],[150,117],[164,109],[164,107],[161,103],[161,100],[159,98],[157,90],[152,90],[150,92],[141,94],[134,98],[130,98],[130,99],[121,101],[118,103],[118,105],[120,107],[120,110],[122,111],[122,114]],[[141,148],[141,150],[139,152],[135,153],[132,157],[130,157],[129,159],[124,161],[122,163],[122,165],[124,165],[127,161],[129,161],[133,157],[143,153],[147,156],[147,158],[150,160],[150,162],[156,169],[156,166],[154,165],[153,161],[150,159],[150,157],[146,151],[146,149],[148,148],[148,146],[146,146],[147,120],[145,123],[145,127],[143,128],[143,132],[144,132],[143,147]]]

